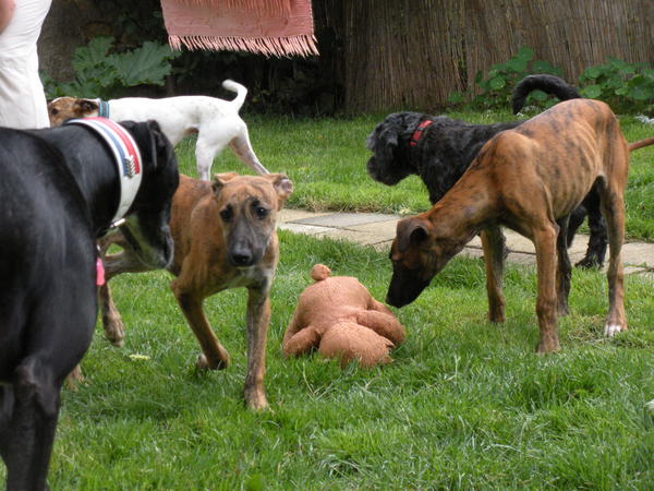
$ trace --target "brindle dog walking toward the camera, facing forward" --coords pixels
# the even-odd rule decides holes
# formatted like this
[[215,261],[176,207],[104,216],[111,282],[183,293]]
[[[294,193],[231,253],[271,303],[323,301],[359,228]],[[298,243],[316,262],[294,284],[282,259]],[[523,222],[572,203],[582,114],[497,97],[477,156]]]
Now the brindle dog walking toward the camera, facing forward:
[[[264,373],[269,291],[279,256],[277,214],[292,189],[291,181],[280,173],[229,172],[216,175],[213,182],[180,176],[172,200],[174,258],[168,271],[177,278],[170,286],[202,347],[199,368],[223,369],[230,362],[204,313],[204,299],[227,288],[247,288],[245,403],[253,409],[268,406]],[[114,236],[105,241],[102,249],[106,251],[110,243],[125,246],[120,236]],[[107,282],[121,273],[148,271],[129,247],[104,260]],[[100,289],[99,298],[105,333],[120,345],[123,324],[108,285]]]

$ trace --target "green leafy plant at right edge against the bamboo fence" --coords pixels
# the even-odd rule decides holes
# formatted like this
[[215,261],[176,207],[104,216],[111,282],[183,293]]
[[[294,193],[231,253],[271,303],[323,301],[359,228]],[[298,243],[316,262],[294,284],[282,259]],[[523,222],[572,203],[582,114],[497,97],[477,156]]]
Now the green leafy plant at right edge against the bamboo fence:
[[584,97],[601,99],[616,110],[654,109],[654,69],[646,63],[628,63],[608,57],[579,76]]

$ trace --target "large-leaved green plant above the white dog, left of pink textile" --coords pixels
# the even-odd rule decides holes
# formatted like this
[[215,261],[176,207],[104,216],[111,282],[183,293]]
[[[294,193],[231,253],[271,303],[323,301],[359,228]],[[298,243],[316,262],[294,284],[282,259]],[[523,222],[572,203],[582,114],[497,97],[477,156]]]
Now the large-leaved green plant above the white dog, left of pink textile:
[[59,83],[44,76],[49,98],[70,95],[76,97],[109,98],[120,95],[124,87],[135,85],[164,85],[171,73],[170,60],[179,52],[167,45],[145,41],[140,48],[114,52],[116,39],[96,37],[73,55],[75,79]]

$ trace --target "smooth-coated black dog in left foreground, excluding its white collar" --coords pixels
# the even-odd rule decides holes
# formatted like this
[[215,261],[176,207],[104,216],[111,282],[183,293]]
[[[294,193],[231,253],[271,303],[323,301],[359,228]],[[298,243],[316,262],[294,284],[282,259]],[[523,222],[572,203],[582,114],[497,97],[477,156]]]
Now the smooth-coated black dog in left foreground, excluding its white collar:
[[[126,128],[143,181],[122,226],[152,267],[172,256],[173,149],[155,122]],[[118,209],[112,154],[93,130],[0,129],[0,454],[8,490],[47,489],[64,378],[97,315],[96,238]]]

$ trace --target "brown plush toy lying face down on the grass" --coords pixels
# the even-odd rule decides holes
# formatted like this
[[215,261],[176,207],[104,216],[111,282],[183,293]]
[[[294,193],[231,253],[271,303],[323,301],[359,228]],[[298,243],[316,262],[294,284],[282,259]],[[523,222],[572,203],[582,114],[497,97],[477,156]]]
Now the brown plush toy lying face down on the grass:
[[313,267],[316,283],[300,295],[283,335],[283,354],[298,356],[317,347],[341,366],[353,359],[363,367],[391,362],[390,348],[407,336],[402,324],[356,278],[330,275],[324,264]]

